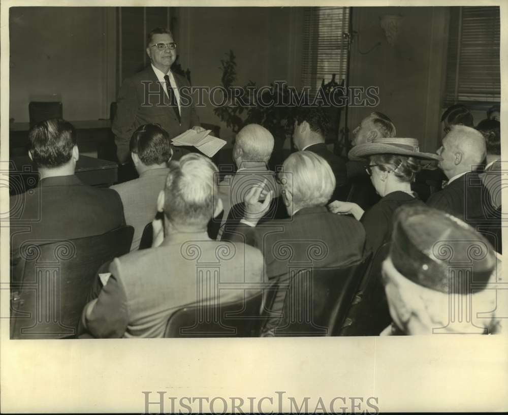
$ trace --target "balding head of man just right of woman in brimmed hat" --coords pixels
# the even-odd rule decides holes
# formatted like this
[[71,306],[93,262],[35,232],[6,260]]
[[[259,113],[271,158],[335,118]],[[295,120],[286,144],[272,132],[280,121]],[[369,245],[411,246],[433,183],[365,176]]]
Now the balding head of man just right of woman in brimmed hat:
[[477,130],[464,125],[453,125],[437,150],[443,159],[439,168],[450,179],[468,172],[483,162],[486,155],[484,136]]

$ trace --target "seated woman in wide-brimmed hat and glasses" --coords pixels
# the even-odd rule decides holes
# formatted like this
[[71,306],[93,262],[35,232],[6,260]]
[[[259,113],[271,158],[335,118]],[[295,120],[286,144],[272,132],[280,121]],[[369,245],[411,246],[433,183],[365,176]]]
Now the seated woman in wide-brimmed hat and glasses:
[[331,203],[333,213],[353,214],[365,228],[365,251],[375,253],[390,240],[392,216],[401,205],[422,204],[411,191],[411,182],[420,171],[422,162],[438,160],[435,154],[419,151],[414,138],[376,138],[359,144],[348,154],[351,160],[368,159],[367,171],[377,194],[382,199],[364,211],[356,203]]

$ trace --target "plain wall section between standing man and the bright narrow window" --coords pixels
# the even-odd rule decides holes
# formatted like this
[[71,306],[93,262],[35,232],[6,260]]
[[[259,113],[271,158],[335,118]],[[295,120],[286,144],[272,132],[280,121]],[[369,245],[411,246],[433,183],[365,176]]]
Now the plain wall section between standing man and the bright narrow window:
[[[178,10],[177,37],[182,68],[191,70],[193,86],[220,85],[220,60],[231,50],[236,55],[236,85],[249,80],[258,86],[275,80],[294,82],[296,14],[294,8],[211,7]],[[220,98],[217,93],[217,99]],[[206,103],[206,101],[205,101]],[[220,125],[221,138],[231,141],[233,133],[213,113],[199,108],[202,122]]]

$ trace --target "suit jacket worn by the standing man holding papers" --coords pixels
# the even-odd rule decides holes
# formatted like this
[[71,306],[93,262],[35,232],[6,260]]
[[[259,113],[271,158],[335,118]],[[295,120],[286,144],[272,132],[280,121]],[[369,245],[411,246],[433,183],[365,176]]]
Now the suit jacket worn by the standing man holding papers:
[[178,122],[164,88],[151,66],[123,82],[117,98],[116,116],[111,127],[116,137],[116,153],[120,163],[129,159],[131,136],[142,124],[160,124],[169,133],[170,138],[194,125],[200,125],[190,95],[190,84],[181,75],[173,73],[173,76],[180,92],[181,122]]

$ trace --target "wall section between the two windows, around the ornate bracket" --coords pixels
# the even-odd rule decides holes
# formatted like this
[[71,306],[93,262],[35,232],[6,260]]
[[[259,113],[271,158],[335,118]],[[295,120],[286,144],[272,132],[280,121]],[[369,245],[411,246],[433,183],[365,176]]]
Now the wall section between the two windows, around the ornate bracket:
[[[379,17],[399,14],[397,43],[388,44]],[[379,87],[375,108],[350,108],[353,130],[372,111],[388,115],[399,137],[420,140],[435,151],[440,140],[441,91],[446,63],[448,7],[356,7],[350,85]],[[381,45],[367,52],[377,42]]]

